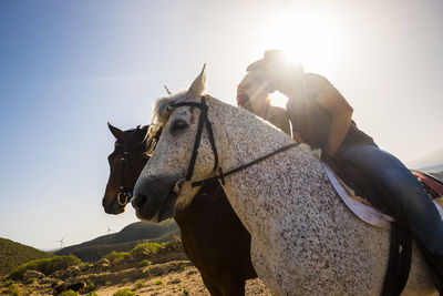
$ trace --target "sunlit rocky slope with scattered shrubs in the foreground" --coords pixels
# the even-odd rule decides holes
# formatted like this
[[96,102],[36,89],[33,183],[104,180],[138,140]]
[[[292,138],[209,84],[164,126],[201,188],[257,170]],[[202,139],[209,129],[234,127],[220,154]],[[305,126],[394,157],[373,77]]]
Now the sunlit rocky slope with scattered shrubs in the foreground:
[[[209,296],[200,274],[183,252],[179,239],[158,248],[138,246],[123,257],[61,268],[47,276],[1,282],[0,295],[45,296],[75,287],[80,295],[193,295]],[[123,293],[126,290],[126,293]],[[133,293],[131,293],[131,290]],[[75,293],[64,295],[79,295]],[[259,278],[246,284],[246,295],[274,295]]]

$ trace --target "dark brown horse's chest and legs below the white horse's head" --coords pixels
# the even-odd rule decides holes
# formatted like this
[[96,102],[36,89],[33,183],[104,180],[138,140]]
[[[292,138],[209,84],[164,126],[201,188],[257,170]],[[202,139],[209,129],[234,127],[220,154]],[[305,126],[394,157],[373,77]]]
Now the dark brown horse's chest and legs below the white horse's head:
[[175,213],[186,255],[198,268],[210,295],[245,295],[246,279],[256,277],[250,235],[218,182],[200,188]]

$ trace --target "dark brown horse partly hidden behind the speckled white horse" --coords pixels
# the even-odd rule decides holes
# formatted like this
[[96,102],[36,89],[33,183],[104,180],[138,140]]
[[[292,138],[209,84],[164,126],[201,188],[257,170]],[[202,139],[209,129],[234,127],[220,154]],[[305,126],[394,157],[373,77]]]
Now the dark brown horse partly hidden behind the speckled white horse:
[[[135,182],[147,162],[143,142],[147,126],[121,131],[110,154],[110,180],[103,197],[107,214],[124,212]],[[245,295],[246,279],[256,277],[250,262],[250,235],[234,213],[217,182],[200,188],[194,201],[174,216],[186,255],[198,268],[212,295]]]

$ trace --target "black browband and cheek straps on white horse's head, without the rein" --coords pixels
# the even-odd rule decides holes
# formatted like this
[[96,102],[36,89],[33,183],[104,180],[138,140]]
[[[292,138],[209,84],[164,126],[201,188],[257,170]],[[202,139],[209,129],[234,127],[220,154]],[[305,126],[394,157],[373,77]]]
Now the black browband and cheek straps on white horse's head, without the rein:
[[193,174],[194,174],[195,162],[196,162],[197,155],[198,155],[198,146],[200,145],[203,125],[206,125],[206,130],[208,131],[208,134],[209,134],[210,147],[213,149],[213,153],[214,153],[213,171],[217,170],[217,167],[218,167],[218,153],[217,153],[217,147],[215,145],[213,126],[210,125],[210,122],[207,118],[208,105],[206,104],[205,96],[202,95],[199,103],[197,103],[197,102],[181,102],[181,103],[176,103],[173,105],[173,108],[179,108],[179,106],[194,106],[194,108],[198,108],[200,110],[197,133],[195,135],[193,155],[190,156],[189,166],[187,169],[187,174],[186,174],[186,181],[190,181],[190,178],[193,177]]

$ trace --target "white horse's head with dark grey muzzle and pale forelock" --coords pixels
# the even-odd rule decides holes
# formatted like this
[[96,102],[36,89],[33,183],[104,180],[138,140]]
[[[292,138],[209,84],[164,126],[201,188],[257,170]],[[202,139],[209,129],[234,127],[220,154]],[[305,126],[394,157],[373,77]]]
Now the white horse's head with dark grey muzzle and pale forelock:
[[[141,220],[159,222],[173,217],[176,203],[188,204],[198,191],[183,181],[188,174],[202,109],[176,104],[199,103],[205,79],[204,67],[187,91],[162,98],[154,104],[152,126],[155,127],[148,136],[156,133],[155,129],[161,129],[162,135],[135,185],[132,204]],[[204,126],[193,180],[210,175],[215,157],[208,130]]]

